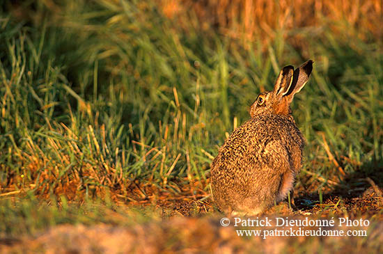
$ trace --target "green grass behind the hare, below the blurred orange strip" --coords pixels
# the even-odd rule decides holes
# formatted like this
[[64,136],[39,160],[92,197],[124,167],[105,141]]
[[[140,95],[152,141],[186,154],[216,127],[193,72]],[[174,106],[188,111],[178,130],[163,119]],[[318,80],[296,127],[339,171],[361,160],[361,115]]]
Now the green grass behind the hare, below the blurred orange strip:
[[[1,9],[2,232],[103,221],[103,212],[89,219],[93,212],[81,206],[62,208],[74,201],[205,200],[219,145],[249,118],[250,104],[272,89],[281,67],[308,58],[313,75],[292,104],[307,141],[297,188],[322,198],[322,190],[360,186],[350,178],[382,187],[379,37],[362,40],[324,24],[282,29],[244,47],[191,23],[164,17],[151,1],[27,1]],[[299,34],[304,47],[286,34]]]

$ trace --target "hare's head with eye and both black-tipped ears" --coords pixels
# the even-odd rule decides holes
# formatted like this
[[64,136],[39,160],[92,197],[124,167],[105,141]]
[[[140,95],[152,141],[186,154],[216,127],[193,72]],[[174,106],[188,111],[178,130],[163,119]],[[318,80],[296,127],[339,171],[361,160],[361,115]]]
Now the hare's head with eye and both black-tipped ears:
[[304,87],[312,70],[313,61],[311,60],[295,70],[291,65],[283,67],[276,79],[274,90],[261,93],[251,105],[251,118],[264,113],[289,115],[292,98]]

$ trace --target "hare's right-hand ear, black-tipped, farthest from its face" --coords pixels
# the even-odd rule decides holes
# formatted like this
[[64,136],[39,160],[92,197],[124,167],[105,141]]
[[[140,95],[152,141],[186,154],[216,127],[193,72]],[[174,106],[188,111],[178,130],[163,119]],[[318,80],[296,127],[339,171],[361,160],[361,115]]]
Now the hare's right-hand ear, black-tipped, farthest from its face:
[[308,60],[306,63],[303,63],[299,68],[295,69],[292,83],[288,92],[285,94],[288,97],[288,101],[291,102],[292,98],[296,93],[299,93],[300,90],[306,85],[308,78],[310,77],[311,72],[313,71],[313,61]]

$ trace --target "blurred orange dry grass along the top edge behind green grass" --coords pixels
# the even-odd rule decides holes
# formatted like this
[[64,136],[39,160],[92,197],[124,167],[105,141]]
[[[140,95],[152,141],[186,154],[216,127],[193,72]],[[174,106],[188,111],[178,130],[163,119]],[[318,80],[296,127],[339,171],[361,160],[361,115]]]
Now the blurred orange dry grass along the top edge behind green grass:
[[[242,42],[284,39],[296,36],[297,29],[315,33],[330,26],[367,40],[382,38],[383,6],[380,0],[161,0],[165,15],[189,24],[189,9],[195,11],[200,28],[217,27],[221,33]],[[193,22],[193,21],[192,21]],[[339,26],[341,25],[341,26]],[[344,32],[343,31],[343,32]],[[296,40],[296,38],[295,38]]]

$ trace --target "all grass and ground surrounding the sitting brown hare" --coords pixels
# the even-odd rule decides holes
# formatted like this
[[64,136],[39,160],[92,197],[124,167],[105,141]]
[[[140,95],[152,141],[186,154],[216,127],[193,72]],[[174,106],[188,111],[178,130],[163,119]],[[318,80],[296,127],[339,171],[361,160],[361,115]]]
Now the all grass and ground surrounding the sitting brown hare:
[[[258,246],[219,227],[210,163],[279,70],[311,58],[311,80],[292,104],[307,143],[297,207],[376,221],[373,236],[257,248],[382,251],[382,8],[380,0],[1,3],[0,250]],[[271,212],[286,213],[297,211]]]

